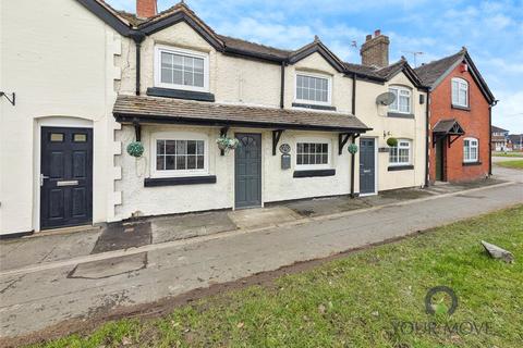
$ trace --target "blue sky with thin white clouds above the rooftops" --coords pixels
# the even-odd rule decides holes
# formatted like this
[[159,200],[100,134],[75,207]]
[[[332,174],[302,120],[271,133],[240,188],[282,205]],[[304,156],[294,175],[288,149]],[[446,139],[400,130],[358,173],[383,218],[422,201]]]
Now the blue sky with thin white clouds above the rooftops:
[[[135,11],[135,0],[106,0]],[[178,0],[158,0],[159,11]],[[465,46],[499,103],[492,124],[523,133],[523,0],[186,0],[215,32],[283,49],[318,35],[338,57],[360,63],[365,35],[390,37],[390,61],[414,65]]]

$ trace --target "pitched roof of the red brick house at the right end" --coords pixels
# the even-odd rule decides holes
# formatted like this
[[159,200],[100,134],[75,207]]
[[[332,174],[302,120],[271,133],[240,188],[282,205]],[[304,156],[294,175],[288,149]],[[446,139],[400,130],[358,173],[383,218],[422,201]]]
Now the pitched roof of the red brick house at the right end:
[[463,61],[465,61],[466,64],[469,65],[470,67],[469,71],[472,77],[478,85],[479,89],[482,90],[487,101],[490,104],[495,103],[496,98],[494,97],[492,92],[488,88],[487,83],[483,78],[476,65],[472,61],[472,58],[469,54],[465,47],[463,47],[458,53],[442,58],[437,61],[433,61],[427,64],[423,64],[422,66],[414,69],[414,71],[417,74],[417,76],[419,76],[419,79],[422,80],[423,85],[428,86],[431,89],[435,89],[443,80],[443,78],[448,74],[450,74],[450,72],[452,72],[452,70],[458,64],[460,64]]

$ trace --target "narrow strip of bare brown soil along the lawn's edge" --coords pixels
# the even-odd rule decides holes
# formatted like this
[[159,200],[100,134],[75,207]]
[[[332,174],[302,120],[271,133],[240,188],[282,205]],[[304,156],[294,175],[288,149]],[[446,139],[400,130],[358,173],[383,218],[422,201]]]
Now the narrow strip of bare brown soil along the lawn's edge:
[[275,271],[253,274],[251,276],[240,278],[233,282],[214,284],[206,288],[194,289],[179,296],[167,297],[150,303],[118,307],[115,309],[109,309],[110,307],[108,307],[105,310],[99,310],[94,312],[94,314],[92,314],[88,318],[77,318],[77,319],[63,321],[59,324],[49,326],[45,330],[34,332],[25,336],[19,336],[14,338],[0,338],[0,347],[20,347],[20,346],[25,346],[25,345],[36,344],[36,343],[44,343],[46,340],[57,339],[59,337],[71,335],[73,333],[80,334],[80,335],[88,335],[98,326],[100,326],[101,324],[108,321],[114,321],[123,318],[126,318],[126,319],[158,318],[172,312],[178,307],[192,303],[205,297],[215,296],[221,293],[248,287],[252,285],[272,287],[273,281],[280,276],[305,272],[313,268],[319,266],[326,262],[344,258],[351,253],[365,250],[375,246],[394,243],[394,241],[413,237],[415,235],[423,234],[423,233],[425,232],[418,231],[418,232],[412,233],[409,236],[394,237],[394,238],[386,239],[379,243],[374,243],[366,246],[353,248],[353,249],[343,251],[341,253],[332,254],[324,259],[314,259],[309,261],[296,262],[291,265],[282,266]]

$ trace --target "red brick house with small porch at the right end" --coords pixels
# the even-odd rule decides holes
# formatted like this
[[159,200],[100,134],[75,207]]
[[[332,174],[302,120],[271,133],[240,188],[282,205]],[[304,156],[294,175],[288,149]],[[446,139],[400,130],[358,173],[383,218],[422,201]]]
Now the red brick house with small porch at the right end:
[[488,176],[491,173],[491,108],[497,101],[466,49],[415,71],[430,88],[430,183]]

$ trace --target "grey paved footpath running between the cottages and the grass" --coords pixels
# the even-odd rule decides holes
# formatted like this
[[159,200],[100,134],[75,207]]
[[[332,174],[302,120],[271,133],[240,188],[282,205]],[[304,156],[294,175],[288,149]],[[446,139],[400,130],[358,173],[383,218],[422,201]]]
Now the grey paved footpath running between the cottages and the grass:
[[236,231],[1,272],[0,334],[28,334],[63,320],[110,313],[119,306],[151,302],[522,202],[520,181],[311,219],[305,224]]

